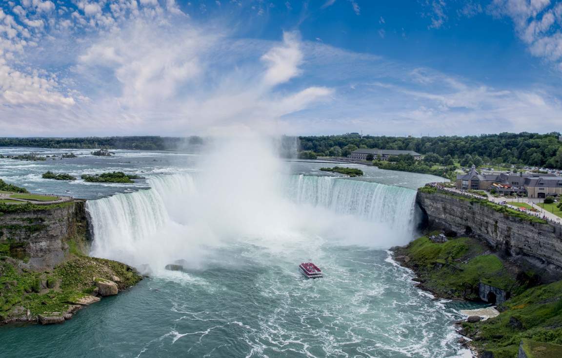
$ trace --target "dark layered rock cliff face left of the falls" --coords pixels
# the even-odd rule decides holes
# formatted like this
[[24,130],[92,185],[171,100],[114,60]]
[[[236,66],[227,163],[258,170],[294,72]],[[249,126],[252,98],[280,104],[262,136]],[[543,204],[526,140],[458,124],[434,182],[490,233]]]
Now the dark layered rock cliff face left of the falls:
[[33,269],[53,268],[68,256],[69,249],[84,249],[87,237],[83,200],[0,215],[2,254],[23,260]]

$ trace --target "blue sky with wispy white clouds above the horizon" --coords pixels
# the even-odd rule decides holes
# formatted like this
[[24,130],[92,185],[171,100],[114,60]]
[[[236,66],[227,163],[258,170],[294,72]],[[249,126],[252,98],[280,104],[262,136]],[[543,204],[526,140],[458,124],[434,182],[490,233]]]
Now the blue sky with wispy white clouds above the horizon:
[[6,136],[562,131],[562,2],[0,5]]

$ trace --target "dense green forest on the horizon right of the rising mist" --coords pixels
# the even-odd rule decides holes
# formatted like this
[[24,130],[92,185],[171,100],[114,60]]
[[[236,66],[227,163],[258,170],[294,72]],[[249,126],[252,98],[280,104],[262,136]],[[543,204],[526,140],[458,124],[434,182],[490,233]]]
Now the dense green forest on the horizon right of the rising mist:
[[[522,132],[479,136],[387,137],[361,136],[357,133],[334,136],[301,136],[300,156],[346,157],[357,148],[414,150],[430,155],[432,162],[451,164],[456,158],[463,166],[474,163],[525,164],[562,168],[562,141],[558,132],[534,134]],[[447,162],[447,163],[446,163]]]

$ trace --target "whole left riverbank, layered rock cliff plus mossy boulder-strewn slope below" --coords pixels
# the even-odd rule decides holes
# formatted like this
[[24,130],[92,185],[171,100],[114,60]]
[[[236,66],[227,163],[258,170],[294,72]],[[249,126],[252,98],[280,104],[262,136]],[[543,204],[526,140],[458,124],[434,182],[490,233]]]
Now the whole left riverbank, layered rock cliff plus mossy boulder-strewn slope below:
[[85,200],[25,195],[0,204],[0,324],[63,323],[142,279],[128,265],[86,255]]

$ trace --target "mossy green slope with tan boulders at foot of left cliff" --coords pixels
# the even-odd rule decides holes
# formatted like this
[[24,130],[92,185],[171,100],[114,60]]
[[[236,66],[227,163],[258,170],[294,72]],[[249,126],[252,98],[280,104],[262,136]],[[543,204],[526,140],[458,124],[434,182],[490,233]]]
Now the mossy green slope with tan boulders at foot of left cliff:
[[0,257],[0,324],[64,323],[76,311],[117,295],[142,279],[117,261],[71,255],[52,270],[37,272]]

